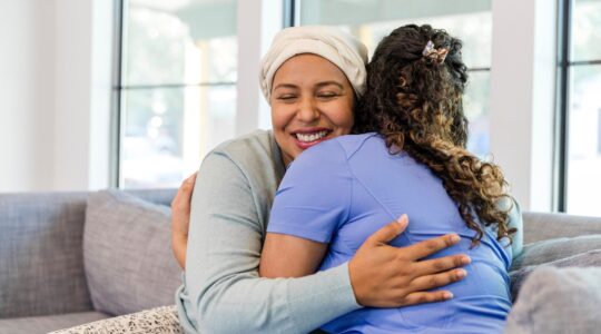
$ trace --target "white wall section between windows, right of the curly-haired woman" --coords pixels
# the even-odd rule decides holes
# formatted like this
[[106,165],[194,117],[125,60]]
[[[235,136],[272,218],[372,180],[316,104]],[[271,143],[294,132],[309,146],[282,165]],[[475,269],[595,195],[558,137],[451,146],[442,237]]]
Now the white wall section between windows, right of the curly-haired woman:
[[491,151],[528,210],[552,209],[554,3],[492,2]]

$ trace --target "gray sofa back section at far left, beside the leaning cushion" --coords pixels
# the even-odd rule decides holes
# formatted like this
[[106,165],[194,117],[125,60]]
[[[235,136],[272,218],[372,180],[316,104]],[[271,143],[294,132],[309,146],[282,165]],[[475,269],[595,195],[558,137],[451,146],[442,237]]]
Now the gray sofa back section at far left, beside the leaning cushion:
[[82,255],[86,199],[0,195],[0,318],[91,310]]

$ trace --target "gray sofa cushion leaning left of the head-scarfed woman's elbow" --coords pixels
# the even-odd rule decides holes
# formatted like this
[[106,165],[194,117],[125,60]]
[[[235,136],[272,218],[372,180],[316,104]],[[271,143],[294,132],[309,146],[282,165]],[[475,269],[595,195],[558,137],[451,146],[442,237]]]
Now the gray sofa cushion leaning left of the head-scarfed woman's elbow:
[[121,315],[171,305],[180,284],[167,206],[118,190],[88,198],[83,263],[93,307]]

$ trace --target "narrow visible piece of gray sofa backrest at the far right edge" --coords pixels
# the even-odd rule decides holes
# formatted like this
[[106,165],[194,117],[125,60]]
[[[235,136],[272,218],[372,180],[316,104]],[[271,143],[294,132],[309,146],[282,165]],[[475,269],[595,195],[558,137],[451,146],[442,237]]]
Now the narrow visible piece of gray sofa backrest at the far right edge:
[[524,245],[559,237],[601,234],[601,217],[523,213]]

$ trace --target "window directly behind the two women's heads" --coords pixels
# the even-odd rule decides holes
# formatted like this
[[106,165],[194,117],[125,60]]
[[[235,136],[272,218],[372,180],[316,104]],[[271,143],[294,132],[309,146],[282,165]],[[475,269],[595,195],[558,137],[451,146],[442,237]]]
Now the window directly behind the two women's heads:
[[[490,0],[296,0],[290,18],[298,24],[337,26],[359,38],[371,52],[393,29],[428,23],[463,40],[463,57],[470,68],[465,114],[470,119],[469,149],[489,154],[489,87],[492,48]],[[294,21],[294,20],[293,20]]]

